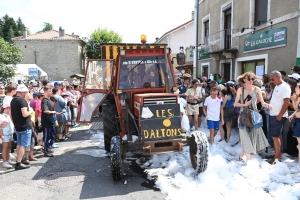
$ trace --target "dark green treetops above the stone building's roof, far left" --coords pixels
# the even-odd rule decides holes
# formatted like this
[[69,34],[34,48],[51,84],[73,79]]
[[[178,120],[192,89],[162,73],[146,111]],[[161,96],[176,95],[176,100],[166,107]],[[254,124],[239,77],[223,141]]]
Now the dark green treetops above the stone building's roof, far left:
[[0,37],[7,42],[11,42],[13,37],[22,36],[24,28],[25,25],[20,17],[15,21],[6,14],[0,19]]

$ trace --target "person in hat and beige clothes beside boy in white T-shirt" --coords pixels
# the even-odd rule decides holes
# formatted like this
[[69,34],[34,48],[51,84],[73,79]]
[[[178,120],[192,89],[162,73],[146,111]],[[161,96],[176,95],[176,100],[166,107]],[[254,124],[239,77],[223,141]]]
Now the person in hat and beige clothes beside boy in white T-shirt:
[[192,119],[194,117],[194,126],[196,131],[198,130],[199,103],[202,100],[202,93],[197,90],[199,84],[200,82],[197,79],[194,79],[192,81],[191,88],[186,91],[186,110],[190,123],[192,123]]

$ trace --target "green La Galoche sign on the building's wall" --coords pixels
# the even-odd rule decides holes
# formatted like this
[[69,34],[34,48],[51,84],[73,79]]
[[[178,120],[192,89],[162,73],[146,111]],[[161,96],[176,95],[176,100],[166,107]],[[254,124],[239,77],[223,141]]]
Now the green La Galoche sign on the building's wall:
[[244,53],[286,46],[286,27],[255,33],[244,39]]

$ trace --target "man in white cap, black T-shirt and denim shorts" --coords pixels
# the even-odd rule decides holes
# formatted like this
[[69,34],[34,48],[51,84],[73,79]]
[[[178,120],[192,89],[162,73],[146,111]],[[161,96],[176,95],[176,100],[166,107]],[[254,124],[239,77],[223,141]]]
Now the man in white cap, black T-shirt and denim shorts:
[[29,168],[29,165],[21,163],[22,158],[25,153],[25,148],[30,146],[30,139],[32,134],[32,123],[31,123],[31,114],[34,113],[33,109],[28,106],[28,88],[20,84],[17,87],[17,94],[11,100],[11,117],[15,125],[17,132],[17,163],[15,170]]

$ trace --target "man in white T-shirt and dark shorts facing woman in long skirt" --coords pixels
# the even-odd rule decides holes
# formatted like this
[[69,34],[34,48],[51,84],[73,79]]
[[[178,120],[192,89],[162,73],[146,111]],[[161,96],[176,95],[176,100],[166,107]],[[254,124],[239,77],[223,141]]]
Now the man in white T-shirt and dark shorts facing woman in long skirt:
[[270,101],[273,107],[270,110],[270,135],[273,139],[275,154],[268,157],[268,162],[276,164],[281,159],[281,130],[288,117],[287,108],[290,103],[291,88],[282,80],[281,73],[277,70],[271,72],[270,80],[276,85]]

